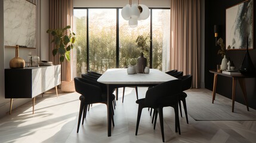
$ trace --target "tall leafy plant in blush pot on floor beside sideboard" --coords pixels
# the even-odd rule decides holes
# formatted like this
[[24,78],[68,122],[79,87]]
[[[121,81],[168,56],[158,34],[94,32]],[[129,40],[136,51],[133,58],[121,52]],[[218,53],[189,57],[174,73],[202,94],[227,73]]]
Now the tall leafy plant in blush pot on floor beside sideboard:
[[[55,48],[53,49],[53,56],[59,54],[61,63],[65,60],[65,58],[69,62],[70,50],[73,49],[73,44],[76,41],[75,33],[70,30],[70,26],[60,29],[48,29],[47,33],[53,35],[53,40],[51,41],[55,45]],[[70,63],[67,64],[70,65]],[[70,68],[66,69],[66,81],[61,81],[61,91],[63,92],[75,91],[74,82],[71,80],[71,77],[68,74],[71,73],[70,70]]]

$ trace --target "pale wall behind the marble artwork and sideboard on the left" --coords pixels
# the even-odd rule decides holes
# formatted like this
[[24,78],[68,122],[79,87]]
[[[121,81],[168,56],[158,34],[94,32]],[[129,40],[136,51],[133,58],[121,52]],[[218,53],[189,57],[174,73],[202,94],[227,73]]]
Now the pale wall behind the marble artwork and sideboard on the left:
[[[48,1],[37,1],[37,43],[36,49],[19,48],[20,57],[25,61],[27,55],[39,55],[41,60],[49,60],[48,34],[49,27],[49,7]],[[9,68],[9,61],[15,57],[15,48],[4,48],[4,1],[0,1],[0,117],[8,114],[10,109],[10,99],[5,99],[4,92],[4,69]],[[15,90],[15,87],[10,87]],[[24,104],[31,99],[14,99],[13,109]]]

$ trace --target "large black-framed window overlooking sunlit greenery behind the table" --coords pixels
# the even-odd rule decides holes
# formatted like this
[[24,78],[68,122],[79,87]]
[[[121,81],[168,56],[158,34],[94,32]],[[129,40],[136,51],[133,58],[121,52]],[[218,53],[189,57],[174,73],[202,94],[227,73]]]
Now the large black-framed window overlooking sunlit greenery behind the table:
[[[75,8],[73,76],[86,70],[104,73],[109,68],[127,67],[130,59],[140,57],[136,39],[149,36],[149,52],[144,52],[147,66],[165,70],[169,55],[170,10],[152,9],[152,16],[131,28],[121,16],[121,8]],[[152,55],[152,57],[150,57]]]

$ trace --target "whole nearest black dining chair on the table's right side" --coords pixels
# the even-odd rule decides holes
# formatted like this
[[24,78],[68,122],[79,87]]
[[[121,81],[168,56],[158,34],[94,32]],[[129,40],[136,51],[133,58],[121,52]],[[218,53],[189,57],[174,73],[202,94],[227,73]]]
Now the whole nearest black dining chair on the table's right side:
[[138,115],[135,135],[137,135],[138,133],[138,125],[140,124],[142,109],[150,107],[153,108],[154,111],[156,111],[156,115],[159,113],[162,141],[165,142],[163,108],[168,106],[174,107],[175,132],[180,133],[180,122],[178,119],[178,95],[182,92],[181,83],[182,82],[180,79],[170,80],[168,82],[161,83],[157,86],[154,86],[153,88],[148,89],[145,98],[136,101],[136,103],[138,104]]

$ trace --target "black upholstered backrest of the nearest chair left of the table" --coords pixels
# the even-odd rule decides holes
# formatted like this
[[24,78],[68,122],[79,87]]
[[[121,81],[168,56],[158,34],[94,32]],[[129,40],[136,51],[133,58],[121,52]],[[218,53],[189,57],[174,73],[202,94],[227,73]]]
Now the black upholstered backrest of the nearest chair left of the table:
[[93,85],[90,83],[90,80],[86,80],[81,77],[75,77],[74,81],[76,92],[83,95],[87,103],[92,104],[94,102],[103,101],[100,86]]

